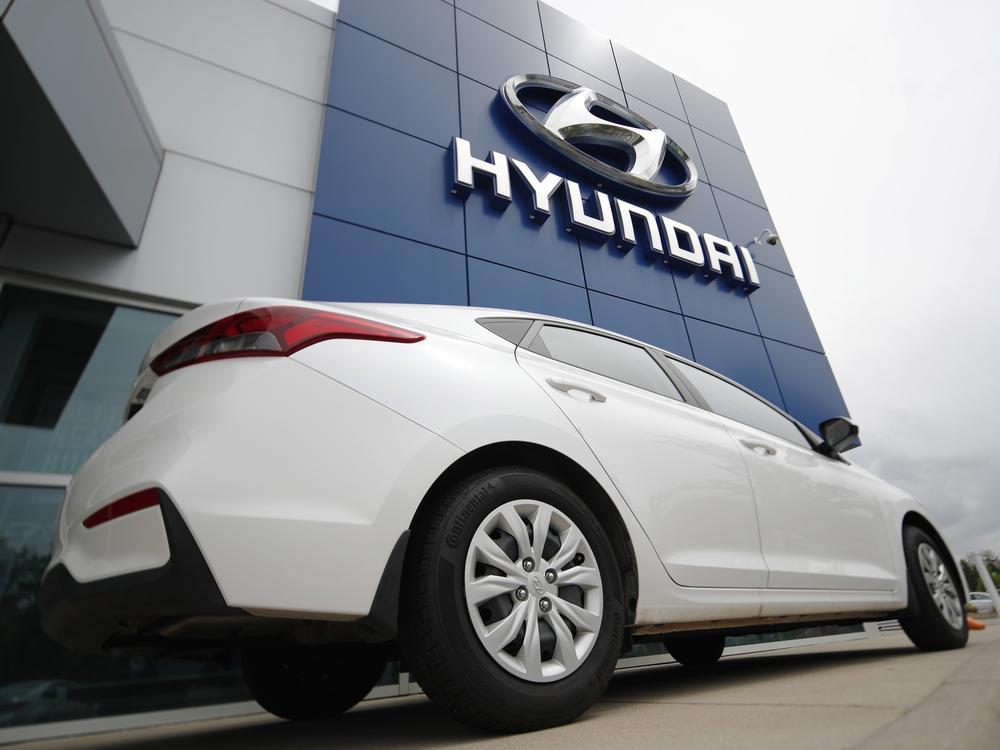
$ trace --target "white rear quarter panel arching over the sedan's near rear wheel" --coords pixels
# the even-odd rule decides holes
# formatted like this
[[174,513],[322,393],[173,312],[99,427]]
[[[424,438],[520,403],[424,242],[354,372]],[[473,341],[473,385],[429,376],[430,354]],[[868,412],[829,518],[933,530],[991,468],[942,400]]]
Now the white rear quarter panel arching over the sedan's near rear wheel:
[[463,451],[518,441],[544,445],[575,461],[615,503],[632,540],[639,573],[637,624],[755,617],[760,610],[756,589],[684,588],[670,580],[646,530],[593,451],[517,366],[514,347],[497,342],[483,345],[431,334],[420,344],[379,348],[375,342],[335,340],[293,356]]

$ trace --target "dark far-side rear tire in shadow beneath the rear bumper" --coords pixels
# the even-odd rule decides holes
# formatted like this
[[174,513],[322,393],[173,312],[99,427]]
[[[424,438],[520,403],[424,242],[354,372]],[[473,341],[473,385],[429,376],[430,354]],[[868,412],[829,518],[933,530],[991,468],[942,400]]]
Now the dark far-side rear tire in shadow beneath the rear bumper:
[[377,646],[287,646],[243,652],[243,681],[261,708],[291,721],[338,716],[364,698],[385,669]]

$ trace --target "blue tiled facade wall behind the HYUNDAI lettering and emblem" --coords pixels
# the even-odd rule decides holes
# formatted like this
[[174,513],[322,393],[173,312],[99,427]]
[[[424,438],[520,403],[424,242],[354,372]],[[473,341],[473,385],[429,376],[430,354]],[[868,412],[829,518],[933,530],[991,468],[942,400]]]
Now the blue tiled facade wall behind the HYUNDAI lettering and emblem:
[[813,428],[846,414],[781,244],[751,248],[761,288],[748,295],[663,263],[641,221],[630,250],[567,232],[564,188],[541,225],[528,219],[529,195],[514,175],[506,206],[482,186],[465,200],[451,194],[456,135],[477,158],[497,151],[592,194],[592,176],[499,101],[510,76],[550,71],[652,120],[700,173],[684,200],[601,189],[744,245],[777,231],[725,103],[572,18],[533,0],[343,0],[303,297],[472,304],[593,322],[717,369]]

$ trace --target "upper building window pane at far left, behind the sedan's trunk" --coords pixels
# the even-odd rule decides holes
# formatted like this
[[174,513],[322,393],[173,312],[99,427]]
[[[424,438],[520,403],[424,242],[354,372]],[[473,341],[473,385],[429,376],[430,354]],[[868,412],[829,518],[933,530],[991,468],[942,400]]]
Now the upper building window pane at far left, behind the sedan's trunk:
[[173,315],[0,289],[0,470],[72,474],[121,426],[142,355]]

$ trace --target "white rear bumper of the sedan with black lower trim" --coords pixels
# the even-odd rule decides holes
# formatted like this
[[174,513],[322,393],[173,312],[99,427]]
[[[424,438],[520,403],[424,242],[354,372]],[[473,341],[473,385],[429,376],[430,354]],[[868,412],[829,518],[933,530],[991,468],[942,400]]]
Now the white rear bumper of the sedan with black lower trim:
[[[374,611],[421,498],[461,455],[290,359],[170,373],[70,483],[45,576],[46,628],[94,648],[152,618],[240,615],[243,635],[265,623],[354,627]],[[150,487],[160,507],[84,525]],[[231,640],[232,623],[218,624],[212,637]]]

